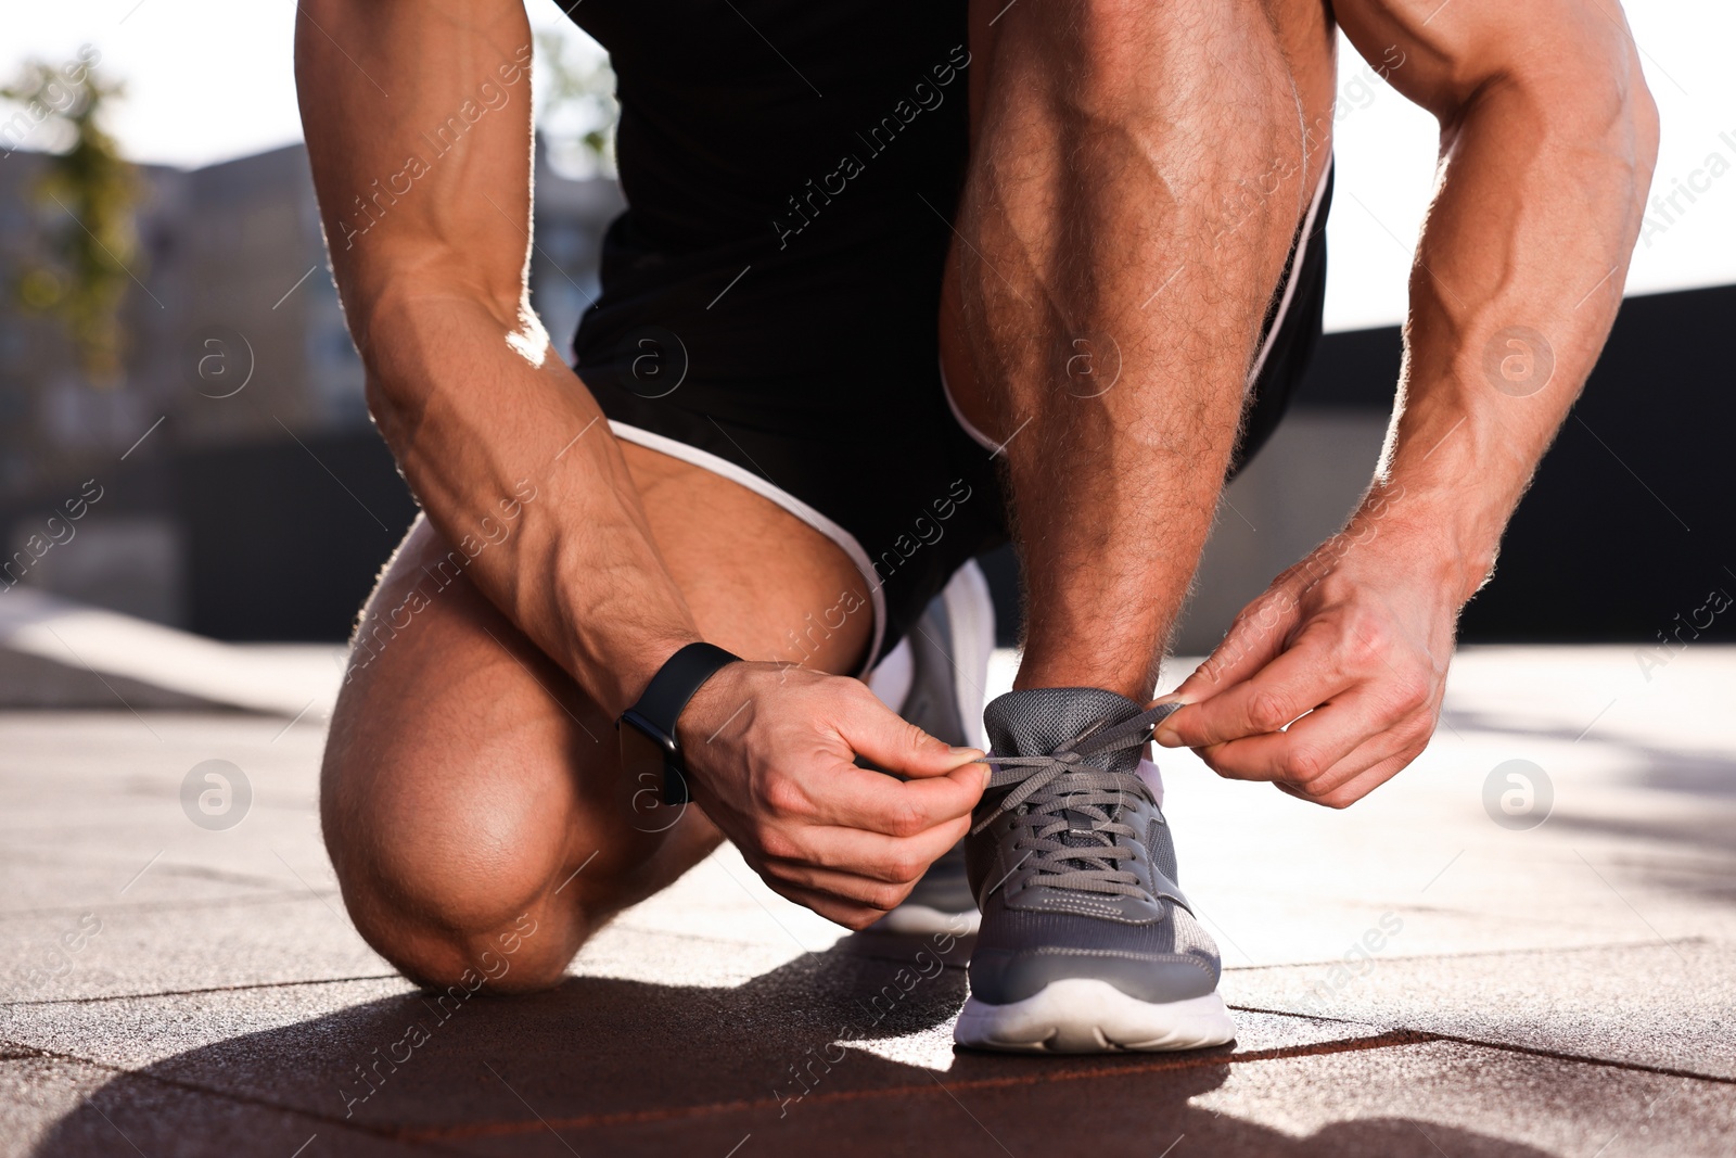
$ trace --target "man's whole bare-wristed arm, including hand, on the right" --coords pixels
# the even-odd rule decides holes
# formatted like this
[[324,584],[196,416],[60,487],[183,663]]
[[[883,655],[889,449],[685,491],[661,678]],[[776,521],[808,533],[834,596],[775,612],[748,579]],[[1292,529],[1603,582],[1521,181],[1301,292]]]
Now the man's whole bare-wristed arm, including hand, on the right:
[[1434,731],[1458,609],[1493,569],[1621,302],[1658,122],[1634,42],[1602,3],[1335,10],[1441,123],[1399,399],[1345,530],[1238,616],[1158,741],[1342,807]]

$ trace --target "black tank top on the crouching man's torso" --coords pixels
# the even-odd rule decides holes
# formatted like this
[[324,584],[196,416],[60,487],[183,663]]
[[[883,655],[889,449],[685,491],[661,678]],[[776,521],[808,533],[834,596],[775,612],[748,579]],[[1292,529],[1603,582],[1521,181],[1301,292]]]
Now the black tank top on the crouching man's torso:
[[896,424],[861,391],[934,382],[965,5],[583,0],[571,16],[609,50],[621,102],[628,208],[575,337],[609,417],[646,420],[679,378],[679,410],[767,432]]

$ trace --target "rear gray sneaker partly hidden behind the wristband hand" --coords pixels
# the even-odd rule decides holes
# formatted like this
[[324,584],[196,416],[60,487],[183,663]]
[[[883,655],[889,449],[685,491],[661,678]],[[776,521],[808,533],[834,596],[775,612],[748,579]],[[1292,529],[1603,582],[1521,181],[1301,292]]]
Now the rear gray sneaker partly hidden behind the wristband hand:
[[[995,649],[995,602],[977,564],[958,568],[924,609],[899,649],[910,648],[910,689],[898,714],[955,747],[983,747],[983,686]],[[977,929],[963,842],[929,866],[904,903],[877,920],[878,932],[965,936]]]

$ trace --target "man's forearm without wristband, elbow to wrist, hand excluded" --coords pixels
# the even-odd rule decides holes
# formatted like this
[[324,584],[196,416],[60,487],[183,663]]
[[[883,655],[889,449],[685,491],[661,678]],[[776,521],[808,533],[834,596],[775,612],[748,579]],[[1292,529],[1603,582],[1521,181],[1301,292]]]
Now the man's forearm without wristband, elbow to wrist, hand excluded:
[[1597,361],[1651,181],[1656,113],[1634,52],[1625,40],[1609,56],[1581,52],[1503,71],[1462,106],[1436,104],[1441,186],[1411,271],[1377,514],[1359,519],[1411,533],[1420,566],[1458,602],[1488,578]]

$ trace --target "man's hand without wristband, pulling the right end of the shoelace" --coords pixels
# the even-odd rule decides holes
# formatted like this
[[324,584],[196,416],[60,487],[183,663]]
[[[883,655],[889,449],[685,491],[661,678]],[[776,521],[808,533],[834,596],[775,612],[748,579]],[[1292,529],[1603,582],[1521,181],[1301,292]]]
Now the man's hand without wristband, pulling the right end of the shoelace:
[[1160,745],[1328,807],[1354,804],[1422,753],[1467,578],[1450,559],[1429,566],[1427,540],[1385,523],[1385,503],[1364,507],[1236,616],[1175,691],[1189,707],[1163,722]]

